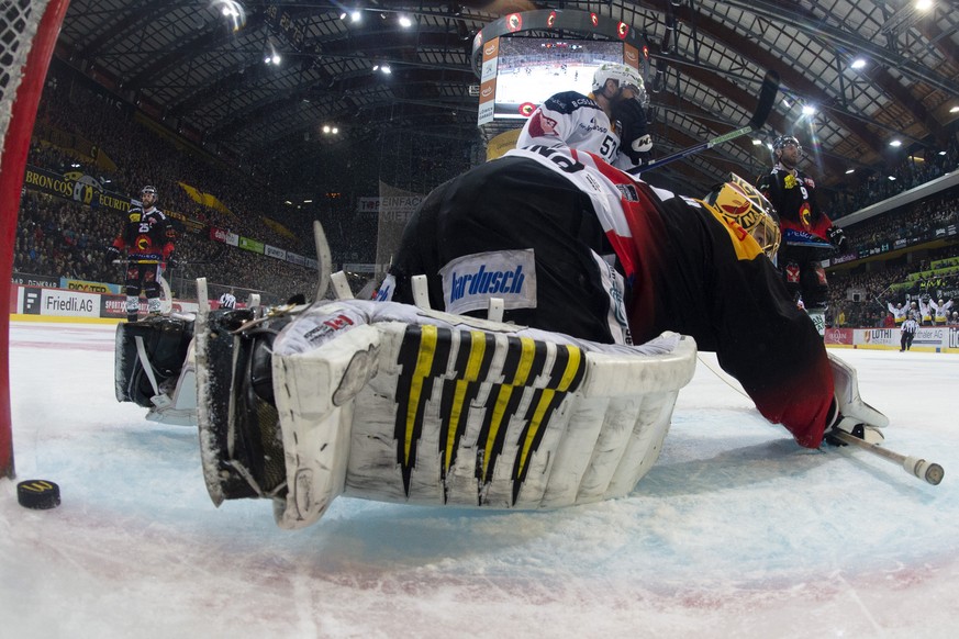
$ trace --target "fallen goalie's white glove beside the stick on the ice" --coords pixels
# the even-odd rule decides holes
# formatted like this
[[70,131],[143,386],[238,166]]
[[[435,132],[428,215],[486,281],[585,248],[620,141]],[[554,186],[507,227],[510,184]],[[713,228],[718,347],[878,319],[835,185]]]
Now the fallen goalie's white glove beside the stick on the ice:
[[885,438],[880,428],[889,426],[889,417],[867,404],[859,396],[856,369],[829,354],[833,369],[833,405],[826,419],[825,440],[833,446],[845,446],[830,433],[844,430],[867,444],[881,444]]

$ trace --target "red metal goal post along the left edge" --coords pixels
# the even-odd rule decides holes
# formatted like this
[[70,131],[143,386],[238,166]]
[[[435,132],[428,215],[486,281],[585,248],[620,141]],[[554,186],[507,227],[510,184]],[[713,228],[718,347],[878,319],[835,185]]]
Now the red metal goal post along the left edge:
[[0,478],[14,475],[10,410],[10,280],[16,214],[36,107],[69,0],[0,4]]

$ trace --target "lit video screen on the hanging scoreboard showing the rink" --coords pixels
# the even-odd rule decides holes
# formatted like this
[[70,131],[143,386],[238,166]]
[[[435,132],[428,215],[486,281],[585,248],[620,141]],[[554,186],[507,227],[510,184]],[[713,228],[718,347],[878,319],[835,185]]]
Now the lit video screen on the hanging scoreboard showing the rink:
[[493,119],[528,117],[560,91],[592,91],[602,63],[622,63],[623,43],[537,37],[500,38]]

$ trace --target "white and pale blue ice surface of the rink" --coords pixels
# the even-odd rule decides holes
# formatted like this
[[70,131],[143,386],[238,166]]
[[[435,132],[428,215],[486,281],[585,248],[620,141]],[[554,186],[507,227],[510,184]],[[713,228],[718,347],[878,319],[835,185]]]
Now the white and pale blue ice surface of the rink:
[[939,486],[800,448],[701,363],[629,497],[339,497],[291,532],[268,502],[213,506],[194,428],[116,403],[113,332],[11,327],[18,481],[57,482],[63,505],[21,508],[0,480],[4,638],[956,636],[956,355],[836,351],[889,415],[888,448],[941,463]]

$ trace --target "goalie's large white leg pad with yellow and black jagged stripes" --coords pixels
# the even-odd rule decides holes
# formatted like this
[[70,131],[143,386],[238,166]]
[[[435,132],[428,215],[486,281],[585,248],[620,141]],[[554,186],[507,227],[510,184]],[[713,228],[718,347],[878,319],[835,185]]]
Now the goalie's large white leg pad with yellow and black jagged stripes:
[[314,305],[274,344],[283,528],[337,495],[555,508],[628,494],[659,457],[695,343],[598,345],[389,302]]

